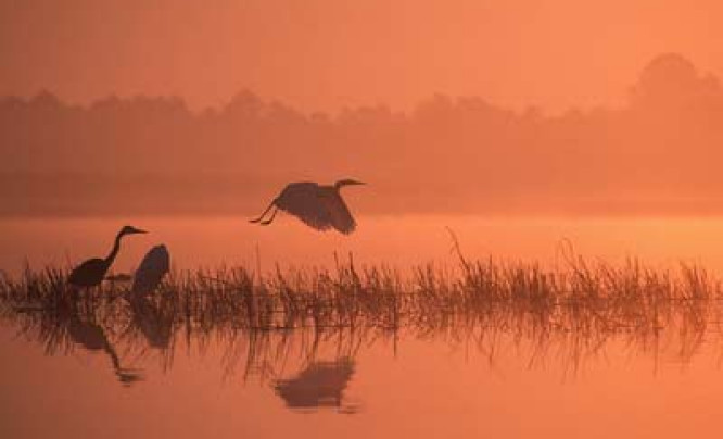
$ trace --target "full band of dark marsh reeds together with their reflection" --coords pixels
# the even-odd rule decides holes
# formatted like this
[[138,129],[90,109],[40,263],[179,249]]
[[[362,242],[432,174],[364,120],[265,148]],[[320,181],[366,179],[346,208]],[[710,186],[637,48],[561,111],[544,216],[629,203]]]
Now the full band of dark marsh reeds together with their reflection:
[[50,354],[78,346],[104,350],[124,384],[140,378],[117,352],[138,358],[160,350],[165,368],[179,342],[202,349],[221,342],[229,374],[243,363],[244,376],[268,377],[300,349],[299,338],[304,359],[322,346],[354,358],[377,340],[396,350],[398,340],[414,338],[473,343],[491,363],[512,340],[527,346],[531,365],[561,354],[566,368],[576,369],[621,340],[636,354],[657,360],[664,350],[687,362],[714,342],[711,334],[722,334],[723,289],[702,267],[591,263],[570,248],[565,266],[550,269],[468,260],[453,239],[454,268],[427,264],[402,273],[357,266],[350,254],[331,269],[277,266],[261,277],[244,266],[172,271],[153,294],[138,298],[128,284],[73,291],[66,269],[28,268],[0,278],[0,318]]

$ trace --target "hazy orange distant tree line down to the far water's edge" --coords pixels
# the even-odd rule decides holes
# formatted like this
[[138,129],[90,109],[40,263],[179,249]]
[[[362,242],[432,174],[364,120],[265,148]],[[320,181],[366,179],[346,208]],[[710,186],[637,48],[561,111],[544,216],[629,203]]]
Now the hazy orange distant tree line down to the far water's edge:
[[0,214],[255,213],[287,181],[354,177],[373,212],[721,213],[723,88],[676,54],[618,109],[546,115],[434,96],[306,114],[242,91],[0,99]]

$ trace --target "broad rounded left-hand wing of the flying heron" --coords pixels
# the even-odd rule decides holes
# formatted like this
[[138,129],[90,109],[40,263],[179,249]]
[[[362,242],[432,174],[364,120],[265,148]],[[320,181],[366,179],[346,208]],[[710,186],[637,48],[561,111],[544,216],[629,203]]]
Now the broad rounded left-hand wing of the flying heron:
[[287,186],[276,205],[317,230],[331,228],[329,209],[322,189],[315,183],[294,183]]

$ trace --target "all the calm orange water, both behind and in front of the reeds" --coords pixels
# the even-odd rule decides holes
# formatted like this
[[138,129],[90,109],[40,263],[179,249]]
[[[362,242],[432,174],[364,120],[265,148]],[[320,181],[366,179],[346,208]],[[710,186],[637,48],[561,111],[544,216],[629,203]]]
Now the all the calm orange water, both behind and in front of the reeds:
[[[246,263],[449,262],[470,255],[555,264],[566,237],[585,255],[723,273],[722,220],[362,218],[348,239],[290,220],[140,218],[118,260],[128,272],[166,243],[178,267]],[[104,254],[126,221],[5,221],[0,266]],[[258,250],[257,250],[258,249]],[[652,337],[533,334],[513,322],[456,330],[330,330],[189,336],[162,319],[66,323],[64,340],[0,321],[0,437],[719,437],[723,335],[695,322]],[[168,324],[170,325],[170,324]],[[98,342],[104,340],[103,343]]]

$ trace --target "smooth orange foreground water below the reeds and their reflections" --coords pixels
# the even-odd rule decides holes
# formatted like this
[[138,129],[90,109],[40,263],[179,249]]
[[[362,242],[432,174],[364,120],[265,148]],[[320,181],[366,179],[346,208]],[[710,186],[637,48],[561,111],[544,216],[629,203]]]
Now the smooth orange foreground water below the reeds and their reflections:
[[[466,343],[403,337],[393,349],[382,340],[359,350],[352,379],[340,379],[340,399],[358,407],[343,416],[289,411],[271,382],[228,375],[220,339],[202,351],[179,347],[172,368],[150,356],[147,380],[124,388],[104,355],[49,358],[9,335],[0,331],[3,437],[714,437],[723,414],[709,349],[681,364],[613,342],[565,374],[554,354],[531,366],[513,343],[491,362]],[[297,382],[308,375],[303,363],[290,359],[277,373]]]

